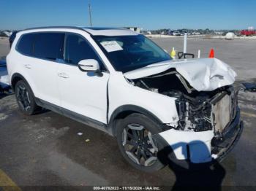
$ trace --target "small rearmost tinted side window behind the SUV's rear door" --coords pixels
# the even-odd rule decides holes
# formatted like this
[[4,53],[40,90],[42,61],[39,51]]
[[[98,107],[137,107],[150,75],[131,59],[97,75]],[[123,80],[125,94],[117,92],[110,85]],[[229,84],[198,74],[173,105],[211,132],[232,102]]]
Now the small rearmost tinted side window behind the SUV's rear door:
[[17,50],[23,55],[32,55],[34,34],[23,34],[18,41]]

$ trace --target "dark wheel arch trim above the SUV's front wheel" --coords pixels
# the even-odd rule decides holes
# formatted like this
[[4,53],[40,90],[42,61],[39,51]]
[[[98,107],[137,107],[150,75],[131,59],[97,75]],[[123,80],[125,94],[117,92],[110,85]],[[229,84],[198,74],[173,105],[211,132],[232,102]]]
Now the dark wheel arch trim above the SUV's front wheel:
[[118,122],[127,117],[129,114],[133,113],[143,114],[146,117],[149,117],[154,122],[156,122],[161,127],[164,126],[163,122],[159,120],[159,118],[155,114],[149,112],[147,109],[135,105],[124,105],[119,106],[117,109],[114,110],[108,122],[108,126],[112,131],[113,136],[116,136],[116,127],[118,126]]

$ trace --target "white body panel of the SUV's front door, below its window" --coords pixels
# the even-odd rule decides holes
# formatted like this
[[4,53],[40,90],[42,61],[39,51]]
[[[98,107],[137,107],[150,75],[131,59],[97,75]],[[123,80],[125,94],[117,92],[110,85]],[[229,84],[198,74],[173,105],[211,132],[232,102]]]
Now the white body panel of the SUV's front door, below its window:
[[[58,64],[57,64],[58,65]],[[80,71],[78,66],[59,64],[57,77],[61,107],[106,123],[107,85],[110,74],[97,77],[93,71]]]

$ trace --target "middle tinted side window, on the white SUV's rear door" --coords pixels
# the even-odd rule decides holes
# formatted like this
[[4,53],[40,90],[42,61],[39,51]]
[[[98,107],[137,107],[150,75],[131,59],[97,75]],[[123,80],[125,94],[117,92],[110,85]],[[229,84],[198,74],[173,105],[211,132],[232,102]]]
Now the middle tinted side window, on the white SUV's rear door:
[[55,61],[61,59],[64,44],[63,33],[39,33],[35,34],[34,57]]

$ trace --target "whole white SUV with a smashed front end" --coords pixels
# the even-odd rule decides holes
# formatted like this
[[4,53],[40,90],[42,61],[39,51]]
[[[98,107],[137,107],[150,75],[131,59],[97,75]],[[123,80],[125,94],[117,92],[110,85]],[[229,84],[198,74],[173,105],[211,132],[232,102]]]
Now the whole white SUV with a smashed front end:
[[162,168],[165,156],[222,160],[243,129],[227,64],[172,60],[124,28],[20,31],[7,69],[24,114],[43,107],[116,136],[124,158],[143,171]]

